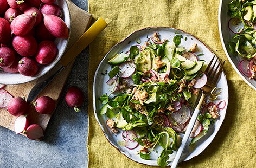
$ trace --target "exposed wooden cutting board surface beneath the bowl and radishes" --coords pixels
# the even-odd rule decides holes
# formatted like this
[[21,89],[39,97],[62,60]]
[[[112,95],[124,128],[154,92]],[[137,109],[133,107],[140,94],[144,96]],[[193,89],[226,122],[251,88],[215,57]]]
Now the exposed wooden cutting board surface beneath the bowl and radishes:
[[[92,15],[88,12],[80,9],[70,0],[67,0],[68,7],[71,14],[71,38],[68,43],[67,49],[69,49],[78,39],[84,34],[91,22]],[[71,72],[73,63],[70,63],[62,72],[46,87],[39,96],[50,96],[54,100],[58,101],[63,86]],[[14,96],[23,96],[27,98],[30,89],[33,87],[36,81],[25,83],[22,85],[9,85],[5,86],[8,92]],[[39,114],[35,111],[35,108],[30,104],[28,118],[30,124],[39,124],[45,130],[52,114]],[[10,115],[7,109],[0,109],[0,126],[8,128],[14,131],[14,121],[16,117]]]

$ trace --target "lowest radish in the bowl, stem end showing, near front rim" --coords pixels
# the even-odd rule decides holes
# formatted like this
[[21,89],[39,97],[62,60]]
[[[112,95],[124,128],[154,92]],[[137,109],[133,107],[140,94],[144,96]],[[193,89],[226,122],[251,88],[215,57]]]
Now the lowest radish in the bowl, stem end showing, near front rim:
[[23,57],[18,61],[18,72],[24,76],[34,76],[38,69],[36,61],[28,57]]

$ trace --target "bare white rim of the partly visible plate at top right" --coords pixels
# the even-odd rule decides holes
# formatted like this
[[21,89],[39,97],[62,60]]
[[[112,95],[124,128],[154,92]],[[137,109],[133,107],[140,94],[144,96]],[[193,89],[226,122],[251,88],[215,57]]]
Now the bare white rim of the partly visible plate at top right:
[[238,73],[242,79],[252,88],[256,90],[256,80],[250,80],[249,77],[242,74],[239,70],[239,62],[242,60],[240,56],[234,56],[229,50],[228,42],[231,41],[231,38],[235,35],[228,29],[228,21],[231,17],[228,16],[228,3],[232,0],[221,0],[219,7],[219,32],[222,47],[225,51],[225,54],[228,57],[229,62],[232,64],[236,73]]

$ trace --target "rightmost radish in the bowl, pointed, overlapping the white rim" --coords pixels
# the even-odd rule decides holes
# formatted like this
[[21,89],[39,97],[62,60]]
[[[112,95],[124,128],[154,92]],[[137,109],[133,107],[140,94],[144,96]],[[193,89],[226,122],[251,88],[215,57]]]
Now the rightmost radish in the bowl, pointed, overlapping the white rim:
[[46,25],[47,30],[54,37],[57,38],[68,38],[68,27],[66,23],[59,17],[55,15],[43,15],[44,25]]

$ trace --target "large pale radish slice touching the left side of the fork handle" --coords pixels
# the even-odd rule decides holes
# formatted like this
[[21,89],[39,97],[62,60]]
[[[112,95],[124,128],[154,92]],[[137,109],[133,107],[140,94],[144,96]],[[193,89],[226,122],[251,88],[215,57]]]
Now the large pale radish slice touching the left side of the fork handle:
[[188,106],[182,105],[181,109],[175,113],[170,114],[170,117],[174,119],[178,125],[183,125],[190,118],[190,109]]

